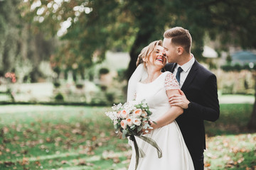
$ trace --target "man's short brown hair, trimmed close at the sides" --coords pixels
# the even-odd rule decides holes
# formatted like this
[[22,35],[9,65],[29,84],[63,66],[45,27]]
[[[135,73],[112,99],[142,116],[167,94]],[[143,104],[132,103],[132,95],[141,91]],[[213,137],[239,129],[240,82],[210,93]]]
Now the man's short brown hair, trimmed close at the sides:
[[174,45],[181,45],[186,52],[191,52],[192,37],[188,30],[174,27],[164,32],[164,38],[171,38]]

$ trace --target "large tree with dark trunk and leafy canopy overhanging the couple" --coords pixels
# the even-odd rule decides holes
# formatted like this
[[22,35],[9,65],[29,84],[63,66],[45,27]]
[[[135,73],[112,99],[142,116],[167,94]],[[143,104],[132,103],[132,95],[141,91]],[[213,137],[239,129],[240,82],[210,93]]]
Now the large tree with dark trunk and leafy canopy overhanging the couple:
[[104,59],[106,50],[123,47],[131,57],[127,79],[142,47],[162,39],[164,30],[174,26],[190,30],[197,60],[203,60],[206,35],[220,42],[219,50],[256,47],[254,0],[28,0],[23,6],[28,6],[25,16],[52,36],[60,33],[60,24],[68,23],[60,64],[90,67]]

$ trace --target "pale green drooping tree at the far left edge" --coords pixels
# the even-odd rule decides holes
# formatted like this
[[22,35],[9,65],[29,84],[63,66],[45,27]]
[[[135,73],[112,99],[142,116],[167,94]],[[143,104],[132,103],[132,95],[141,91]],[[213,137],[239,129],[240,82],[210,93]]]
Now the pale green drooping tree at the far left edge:
[[30,74],[37,81],[41,61],[53,53],[55,40],[46,40],[42,32],[32,34],[30,23],[21,18],[21,1],[0,1],[0,76],[16,72],[19,82]]

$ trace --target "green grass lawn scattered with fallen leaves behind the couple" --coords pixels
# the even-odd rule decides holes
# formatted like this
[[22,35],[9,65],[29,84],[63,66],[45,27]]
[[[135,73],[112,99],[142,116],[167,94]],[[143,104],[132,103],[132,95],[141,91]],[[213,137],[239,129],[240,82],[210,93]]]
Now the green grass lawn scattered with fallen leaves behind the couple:
[[[131,148],[105,111],[82,106],[0,106],[0,169],[127,169]],[[206,169],[256,169],[252,104],[221,104],[206,122]]]

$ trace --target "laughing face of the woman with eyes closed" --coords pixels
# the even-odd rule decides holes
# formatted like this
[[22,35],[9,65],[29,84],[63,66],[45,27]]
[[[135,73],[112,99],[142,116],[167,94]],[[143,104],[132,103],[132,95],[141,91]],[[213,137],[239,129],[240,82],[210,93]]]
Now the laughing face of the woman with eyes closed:
[[149,63],[160,68],[163,68],[165,66],[166,57],[164,55],[164,47],[156,45],[154,51],[149,57]]

